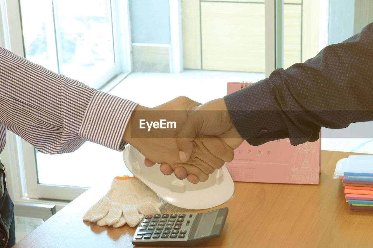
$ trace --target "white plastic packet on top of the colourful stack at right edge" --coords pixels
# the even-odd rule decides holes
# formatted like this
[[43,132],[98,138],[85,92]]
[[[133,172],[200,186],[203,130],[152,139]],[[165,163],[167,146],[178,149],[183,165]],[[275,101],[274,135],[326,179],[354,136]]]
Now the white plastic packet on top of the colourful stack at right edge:
[[373,155],[350,155],[338,160],[333,178],[338,179],[345,172],[373,173]]

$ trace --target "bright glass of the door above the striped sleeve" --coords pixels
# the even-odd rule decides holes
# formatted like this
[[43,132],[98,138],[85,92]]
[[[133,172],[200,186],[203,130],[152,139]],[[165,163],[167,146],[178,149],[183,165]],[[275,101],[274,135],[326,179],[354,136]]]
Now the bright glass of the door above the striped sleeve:
[[25,56],[99,88],[118,73],[110,0],[21,0]]

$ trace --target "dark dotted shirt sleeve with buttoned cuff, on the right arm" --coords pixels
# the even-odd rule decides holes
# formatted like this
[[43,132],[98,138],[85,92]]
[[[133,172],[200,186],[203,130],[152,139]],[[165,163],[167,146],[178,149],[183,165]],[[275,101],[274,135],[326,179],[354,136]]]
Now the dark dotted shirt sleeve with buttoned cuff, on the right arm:
[[316,57],[225,96],[241,136],[252,145],[319,138],[320,128],[373,120],[373,23]]

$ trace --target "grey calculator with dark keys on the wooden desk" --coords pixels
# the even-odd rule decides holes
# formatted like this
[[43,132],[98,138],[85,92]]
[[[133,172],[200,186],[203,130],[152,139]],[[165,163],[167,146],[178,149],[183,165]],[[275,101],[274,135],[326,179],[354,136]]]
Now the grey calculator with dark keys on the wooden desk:
[[217,238],[228,207],[203,213],[147,215],[136,228],[132,244],[144,246],[193,246]]

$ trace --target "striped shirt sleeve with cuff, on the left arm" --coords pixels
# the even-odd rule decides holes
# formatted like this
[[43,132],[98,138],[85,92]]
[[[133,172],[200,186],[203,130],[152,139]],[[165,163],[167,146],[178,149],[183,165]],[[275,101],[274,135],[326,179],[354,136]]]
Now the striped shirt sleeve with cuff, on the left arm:
[[86,140],[121,151],[136,105],[0,47],[0,151],[5,128],[43,153],[73,152]]

